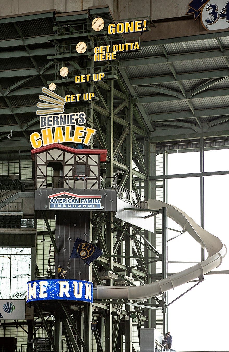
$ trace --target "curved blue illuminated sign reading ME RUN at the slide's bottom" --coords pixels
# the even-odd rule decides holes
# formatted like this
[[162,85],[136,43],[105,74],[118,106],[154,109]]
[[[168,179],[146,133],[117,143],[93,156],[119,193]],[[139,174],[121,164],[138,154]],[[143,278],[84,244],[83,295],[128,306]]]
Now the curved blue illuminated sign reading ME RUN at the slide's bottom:
[[84,280],[34,280],[27,282],[26,302],[64,300],[93,303],[93,283]]

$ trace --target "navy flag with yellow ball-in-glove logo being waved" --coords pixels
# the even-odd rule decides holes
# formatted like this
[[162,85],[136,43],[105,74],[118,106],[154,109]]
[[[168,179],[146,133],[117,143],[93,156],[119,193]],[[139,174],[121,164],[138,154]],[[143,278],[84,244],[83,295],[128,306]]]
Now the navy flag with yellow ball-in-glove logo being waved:
[[81,258],[89,265],[93,260],[101,256],[101,254],[103,254],[103,252],[100,248],[81,238],[77,238],[69,259]]

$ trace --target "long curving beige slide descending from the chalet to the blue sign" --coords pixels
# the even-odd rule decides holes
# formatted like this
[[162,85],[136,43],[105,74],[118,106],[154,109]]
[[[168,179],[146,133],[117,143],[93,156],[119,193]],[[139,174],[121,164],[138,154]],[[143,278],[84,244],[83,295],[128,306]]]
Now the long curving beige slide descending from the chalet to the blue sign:
[[[148,209],[160,210],[163,207],[167,208],[168,218],[174,220],[183,228],[183,230],[187,231],[202,248],[206,249],[208,252],[208,258],[203,260],[203,262],[191,266],[191,268],[150,284],[128,287],[97,286],[97,288],[94,288],[93,290],[95,299],[126,298],[128,300],[142,300],[155,297],[165,291],[201,277],[221,265],[222,258],[227,253],[227,248],[218,237],[204,230],[201,226],[197,225],[189,215],[173,205],[154,199],[148,200],[147,204]],[[142,221],[142,228],[144,228],[144,221]]]

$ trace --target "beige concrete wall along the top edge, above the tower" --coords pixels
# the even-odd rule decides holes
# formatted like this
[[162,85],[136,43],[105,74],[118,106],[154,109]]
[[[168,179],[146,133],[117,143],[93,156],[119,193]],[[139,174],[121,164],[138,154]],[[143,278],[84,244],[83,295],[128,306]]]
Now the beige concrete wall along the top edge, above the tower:
[[108,5],[114,18],[150,15],[152,20],[184,16],[189,0],[0,0],[0,16],[56,9],[57,12],[86,10]]

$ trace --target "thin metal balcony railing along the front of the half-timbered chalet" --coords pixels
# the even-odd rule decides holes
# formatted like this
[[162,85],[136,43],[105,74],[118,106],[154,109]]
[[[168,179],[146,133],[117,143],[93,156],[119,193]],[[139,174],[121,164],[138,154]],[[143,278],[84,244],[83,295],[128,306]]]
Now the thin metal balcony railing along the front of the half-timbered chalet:
[[96,176],[37,176],[36,189],[115,189],[116,177]]

